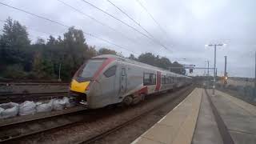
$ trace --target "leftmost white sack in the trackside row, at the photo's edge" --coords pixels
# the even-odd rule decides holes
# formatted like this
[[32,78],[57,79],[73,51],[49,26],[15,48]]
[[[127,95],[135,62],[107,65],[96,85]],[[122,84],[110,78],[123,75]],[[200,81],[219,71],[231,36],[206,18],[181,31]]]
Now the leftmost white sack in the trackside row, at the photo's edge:
[[0,104],[0,108],[0,118],[11,118],[18,114],[18,103],[2,103]]

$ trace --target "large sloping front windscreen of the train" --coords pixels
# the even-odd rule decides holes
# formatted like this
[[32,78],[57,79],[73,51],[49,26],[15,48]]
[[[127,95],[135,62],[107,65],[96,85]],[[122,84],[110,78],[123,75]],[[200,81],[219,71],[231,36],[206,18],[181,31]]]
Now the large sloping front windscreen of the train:
[[90,59],[78,76],[82,78],[92,78],[104,61],[105,59]]

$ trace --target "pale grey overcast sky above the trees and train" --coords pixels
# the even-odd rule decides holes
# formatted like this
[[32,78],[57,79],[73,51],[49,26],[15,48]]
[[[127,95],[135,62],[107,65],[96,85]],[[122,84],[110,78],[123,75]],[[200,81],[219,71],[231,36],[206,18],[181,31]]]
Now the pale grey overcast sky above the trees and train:
[[[227,70],[230,76],[254,77],[254,53],[256,50],[256,1],[254,0],[110,0],[120,9],[134,18],[143,28],[154,36],[154,41],[139,34],[114,18],[103,14],[81,0],[62,0],[70,6],[90,15],[98,22],[79,14],[58,0],[0,0],[0,2],[30,11],[34,14],[75,26],[86,33],[97,35],[118,46],[102,42],[86,35],[86,43],[91,46],[106,47],[129,56],[132,51],[138,54],[152,52],[183,64],[203,67],[206,60],[214,66],[214,48],[206,47],[210,43],[226,43],[217,50],[218,74],[224,73],[224,55],[227,55]],[[146,34],[141,27],[132,22],[125,14],[112,6],[107,0],[86,0],[102,10],[113,14],[135,29]],[[8,17],[18,20],[28,27],[32,42],[36,38],[55,37],[66,32],[67,28],[34,18],[9,7],[0,5],[0,21]],[[3,23],[0,22],[0,28]],[[158,26],[160,25],[160,26]],[[110,27],[114,28],[111,30]],[[41,31],[41,32],[38,32]],[[158,44],[166,46],[168,50]],[[184,58],[186,58],[184,60]],[[194,74],[203,74],[204,70],[194,70]]]

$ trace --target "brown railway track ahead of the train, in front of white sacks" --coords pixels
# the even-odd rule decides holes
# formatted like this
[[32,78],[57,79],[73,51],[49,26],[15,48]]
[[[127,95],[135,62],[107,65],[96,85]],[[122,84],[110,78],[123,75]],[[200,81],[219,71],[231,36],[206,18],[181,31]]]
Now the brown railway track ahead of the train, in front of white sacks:
[[38,118],[27,118],[21,121],[2,123],[0,125],[0,142],[13,143],[18,138],[25,138],[33,134],[81,122],[84,118],[81,115],[84,115],[84,113],[89,114],[90,111],[84,107],[77,106],[70,108],[70,110],[57,112],[57,114],[48,114]]

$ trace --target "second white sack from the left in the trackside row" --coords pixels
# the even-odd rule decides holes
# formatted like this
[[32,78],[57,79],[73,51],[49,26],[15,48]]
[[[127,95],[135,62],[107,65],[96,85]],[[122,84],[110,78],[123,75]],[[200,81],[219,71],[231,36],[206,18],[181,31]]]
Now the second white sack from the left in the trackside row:
[[26,101],[23,102],[19,106],[19,115],[29,115],[29,114],[34,114],[36,112],[35,110],[36,104],[31,101]]

